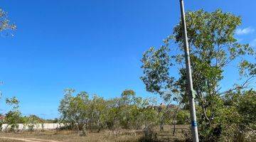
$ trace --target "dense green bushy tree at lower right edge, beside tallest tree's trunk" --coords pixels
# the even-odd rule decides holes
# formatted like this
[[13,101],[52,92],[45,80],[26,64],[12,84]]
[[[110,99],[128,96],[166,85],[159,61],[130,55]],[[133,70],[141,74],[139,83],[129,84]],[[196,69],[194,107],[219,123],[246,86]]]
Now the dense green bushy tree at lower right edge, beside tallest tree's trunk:
[[[256,93],[252,89],[244,92],[230,92],[223,97],[223,106],[215,119],[223,129],[219,141],[252,141],[256,138]],[[216,130],[216,129],[215,129]],[[213,130],[214,132],[214,130]]]

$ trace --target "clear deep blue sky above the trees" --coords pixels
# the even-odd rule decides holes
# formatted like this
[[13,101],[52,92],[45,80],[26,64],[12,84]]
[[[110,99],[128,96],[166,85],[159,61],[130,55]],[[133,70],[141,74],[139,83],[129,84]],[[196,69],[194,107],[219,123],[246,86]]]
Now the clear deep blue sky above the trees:
[[[256,1],[186,0],[186,10],[223,9],[242,16],[242,42],[256,44]],[[16,96],[23,114],[58,116],[63,89],[105,98],[124,89],[145,91],[139,77],[142,53],[159,46],[180,16],[178,0],[2,0],[18,29],[0,38],[0,86]],[[228,84],[234,79],[225,72]],[[8,109],[1,99],[0,112]]]

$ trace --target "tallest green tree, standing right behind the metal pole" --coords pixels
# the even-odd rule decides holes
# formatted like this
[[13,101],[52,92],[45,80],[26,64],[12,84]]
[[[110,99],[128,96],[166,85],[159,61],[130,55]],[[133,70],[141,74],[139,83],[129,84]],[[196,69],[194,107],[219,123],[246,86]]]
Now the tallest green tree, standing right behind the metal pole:
[[[255,62],[245,60],[248,56],[254,58],[255,51],[250,45],[241,44],[235,39],[235,29],[240,26],[241,18],[232,13],[220,10],[189,11],[186,13],[186,22],[199,132],[205,141],[213,141],[210,137],[213,130],[222,125],[221,121],[215,121],[223,117],[220,113],[223,107],[221,97],[244,89],[255,77]],[[169,48],[169,45],[175,45],[170,44],[171,40],[174,40],[178,48]],[[240,77],[245,82],[241,80],[241,84],[223,91],[220,84],[223,72],[228,65],[237,62]],[[173,94],[181,94],[181,102],[188,103],[181,22],[174,27],[174,33],[164,40],[164,45],[159,49],[150,48],[144,53],[142,63],[142,81],[149,92],[158,93],[164,99],[171,99]],[[175,69],[178,70],[178,77],[170,75]]]

